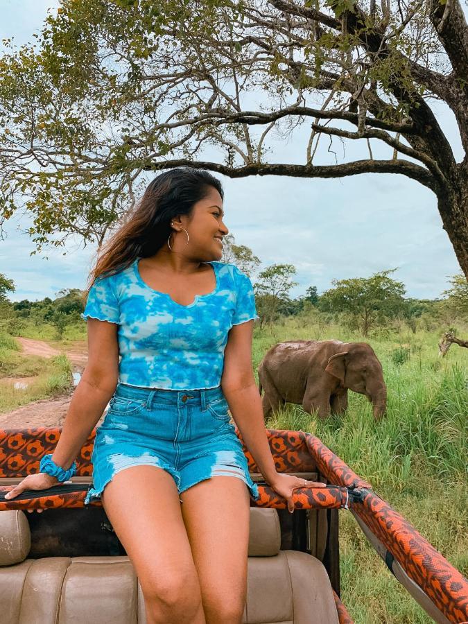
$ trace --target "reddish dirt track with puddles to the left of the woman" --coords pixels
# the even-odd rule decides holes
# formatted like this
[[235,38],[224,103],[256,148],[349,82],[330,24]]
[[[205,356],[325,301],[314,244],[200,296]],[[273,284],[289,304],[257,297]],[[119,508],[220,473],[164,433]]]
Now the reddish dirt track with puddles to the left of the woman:
[[[37,355],[43,358],[64,353],[73,364],[73,372],[82,373],[87,362],[86,344],[83,341],[73,345],[73,349],[60,351],[44,343],[42,340],[31,338],[17,338],[22,347],[22,352],[28,355]],[[17,378],[24,380],[26,378]],[[15,381],[15,380],[12,380]],[[73,388],[74,390],[74,388]],[[69,395],[61,395],[53,399],[41,399],[32,403],[0,414],[0,428],[24,428],[24,427],[52,427],[62,426],[64,417],[70,405],[73,390]]]

